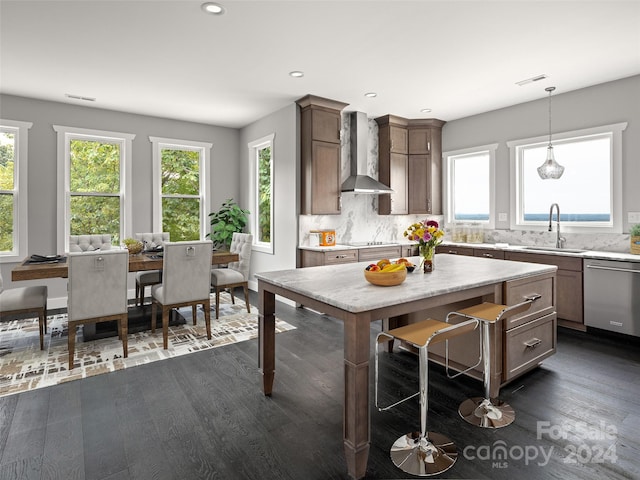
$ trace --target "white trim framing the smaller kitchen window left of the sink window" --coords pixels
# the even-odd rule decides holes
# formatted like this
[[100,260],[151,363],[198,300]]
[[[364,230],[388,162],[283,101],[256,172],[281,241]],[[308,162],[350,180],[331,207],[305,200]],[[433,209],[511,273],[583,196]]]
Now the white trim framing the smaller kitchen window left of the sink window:
[[443,213],[446,225],[451,225],[456,222],[453,219],[453,195],[451,195],[451,189],[453,188],[453,162],[450,161],[451,157],[458,157],[462,155],[479,154],[483,152],[489,153],[489,220],[478,221],[482,224],[483,228],[493,229],[496,224],[495,205],[496,205],[496,150],[498,149],[497,143],[491,143],[489,145],[481,145],[478,147],[463,148],[461,150],[452,150],[444,152],[442,158],[444,159],[444,168],[442,169],[442,184],[445,186],[442,192],[443,200]]

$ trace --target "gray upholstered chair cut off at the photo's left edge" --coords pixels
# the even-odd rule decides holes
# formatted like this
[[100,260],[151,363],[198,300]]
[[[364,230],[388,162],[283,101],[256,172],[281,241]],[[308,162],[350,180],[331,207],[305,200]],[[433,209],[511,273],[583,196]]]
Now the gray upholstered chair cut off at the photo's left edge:
[[31,312],[38,314],[40,350],[43,350],[47,331],[47,287],[39,285],[5,290],[0,273],[0,318]]

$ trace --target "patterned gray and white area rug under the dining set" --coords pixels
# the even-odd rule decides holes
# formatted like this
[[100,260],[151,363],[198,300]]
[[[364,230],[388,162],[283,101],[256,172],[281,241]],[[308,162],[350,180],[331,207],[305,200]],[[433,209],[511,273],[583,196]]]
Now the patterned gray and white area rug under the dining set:
[[[197,325],[193,325],[191,308],[180,309],[186,324],[169,327],[169,348],[162,348],[162,326],[151,331],[129,334],[129,356],[122,356],[118,337],[83,342],[82,327],[77,329],[75,368],[68,370],[67,315],[47,317],[48,333],[44,350],[40,350],[38,319],[11,320],[0,323],[0,396],[35,388],[131,368],[137,365],[178,357],[188,353],[251,340],[258,336],[258,311],[247,313],[245,303],[223,292],[220,296],[220,318],[215,318],[215,298],[211,298],[211,340],[207,339],[204,312],[198,309]],[[276,319],[276,333],[295,327]]]

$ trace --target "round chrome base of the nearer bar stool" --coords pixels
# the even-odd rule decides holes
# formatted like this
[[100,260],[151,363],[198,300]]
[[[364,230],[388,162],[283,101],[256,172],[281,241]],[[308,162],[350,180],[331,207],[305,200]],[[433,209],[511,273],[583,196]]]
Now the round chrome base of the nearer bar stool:
[[454,443],[440,433],[407,433],[391,447],[391,461],[400,470],[411,475],[428,477],[449,470],[458,459]]

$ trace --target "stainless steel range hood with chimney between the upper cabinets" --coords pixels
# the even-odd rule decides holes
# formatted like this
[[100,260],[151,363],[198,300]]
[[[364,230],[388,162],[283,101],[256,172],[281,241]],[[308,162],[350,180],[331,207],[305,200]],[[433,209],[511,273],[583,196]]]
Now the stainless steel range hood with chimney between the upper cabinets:
[[342,184],[343,192],[351,193],[393,193],[389,187],[367,175],[367,137],[369,125],[367,114],[351,112],[351,176]]

